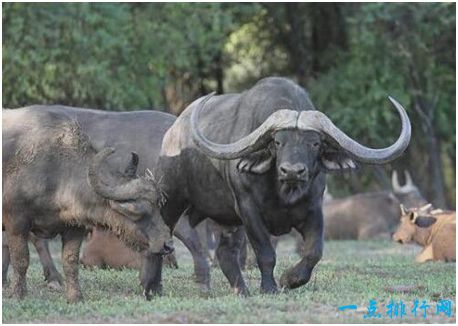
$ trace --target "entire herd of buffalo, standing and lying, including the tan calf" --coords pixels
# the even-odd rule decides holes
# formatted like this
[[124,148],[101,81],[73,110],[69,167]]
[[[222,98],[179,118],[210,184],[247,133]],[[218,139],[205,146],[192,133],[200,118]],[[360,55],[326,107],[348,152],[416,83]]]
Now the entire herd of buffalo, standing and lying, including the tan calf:
[[[454,261],[455,212],[431,207],[408,173],[403,186],[393,173],[392,192],[334,199],[325,191],[327,173],[384,164],[405,151],[410,121],[389,100],[401,131],[382,149],[350,138],[303,88],[279,77],[243,93],[199,98],[179,117],[64,106],[4,109],[3,284],[11,262],[11,295],[26,294],[30,240],[49,286],[64,285],[46,240],[57,235],[69,302],[82,299],[80,262],[137,268],[143,295],[160,293],[163,263],[177,266],[172,235],[191,252],[204,292],[211,257],[235,293],[249,294],[242,276],[247,247],[263,293],[306,284],[324,239],[392,237],[424,246],[419,262]],[[275,240],[288,233],[301,259],[278,285]]]

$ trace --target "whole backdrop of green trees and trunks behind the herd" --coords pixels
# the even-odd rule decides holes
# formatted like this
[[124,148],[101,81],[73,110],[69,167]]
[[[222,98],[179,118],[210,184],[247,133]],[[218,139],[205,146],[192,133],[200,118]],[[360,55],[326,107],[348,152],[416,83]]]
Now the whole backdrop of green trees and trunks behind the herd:
[[[283,75],[350,136],[382,147],[399,131],[391,95],[413,136],[387,171],[410,169],[428,200],[442,189],[454,206],[454,3],[5,3],[2,15],[3,107],[179,114],[212,90]],[[330,189],[380,188],[372,171]]]

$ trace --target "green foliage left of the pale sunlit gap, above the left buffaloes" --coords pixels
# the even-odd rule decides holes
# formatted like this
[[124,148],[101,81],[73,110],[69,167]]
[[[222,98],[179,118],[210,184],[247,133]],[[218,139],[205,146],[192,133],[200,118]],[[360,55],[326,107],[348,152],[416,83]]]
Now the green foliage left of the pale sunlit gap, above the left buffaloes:
[[3,105],[158,107],[176,85],[185,91],[175,97],[189,102],[251,7],[5,4]]

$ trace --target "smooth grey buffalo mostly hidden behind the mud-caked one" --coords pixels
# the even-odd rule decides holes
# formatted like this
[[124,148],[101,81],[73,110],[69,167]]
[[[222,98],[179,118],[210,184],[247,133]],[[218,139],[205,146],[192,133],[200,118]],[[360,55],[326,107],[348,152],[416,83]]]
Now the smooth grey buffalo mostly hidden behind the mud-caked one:
[[[35,105],[31,106],[30,110],[71,117],[89,136],[96,150],[105,147],[116,148],[116,153],[108,158],[108,162],[119,173],[123,172],[128,163],[126,158],[130,156],[131,151],[136,152],[142,158],[139,162],[139,170],[144,171],[149,168],[154,171],[159,158],[162,138],[176,119],[171,114],[159,111],[114,112],[59,105]],[[184,216],[173,232],[191,252],[196,282],[203,292],[208,292],[210,267],[197,231],[189,226],[187,217]],[[96,241],[92,241],[91,245],[96,245]],[[119,242],[116,245],[123,246]],[[113,260],[114,258],[107,259]],[[165,260],[167,259],[166,257]],[[154,267],[150,266],[150,268]],[[143,283],[149,282],[148,275],[152,274],[145,267],[141,275]]]

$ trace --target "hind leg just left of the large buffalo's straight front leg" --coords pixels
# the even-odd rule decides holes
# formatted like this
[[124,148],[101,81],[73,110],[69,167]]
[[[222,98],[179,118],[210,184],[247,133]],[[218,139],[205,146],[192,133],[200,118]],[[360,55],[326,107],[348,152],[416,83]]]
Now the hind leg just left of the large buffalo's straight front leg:
[[248,288],[243,280],[240,268],[240,249],[245,239],[243,227],[229,230],[223,229],[220,234],[216,256],[226,278],[229,280],[235,293],[249,295]]

